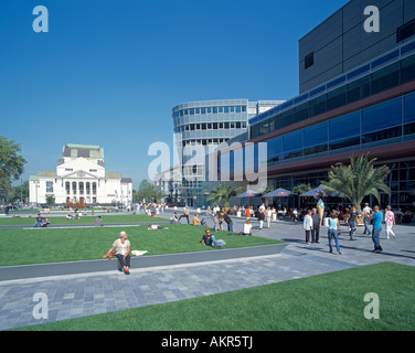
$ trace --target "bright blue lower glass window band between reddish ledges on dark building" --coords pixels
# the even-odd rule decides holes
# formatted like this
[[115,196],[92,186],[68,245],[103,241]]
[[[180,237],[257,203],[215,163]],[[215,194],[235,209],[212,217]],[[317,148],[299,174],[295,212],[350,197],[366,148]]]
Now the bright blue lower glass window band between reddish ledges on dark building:
[[347,148],[359,150],[368,143],[392,143],[403,138],[415,139],[415,93],[264,142],[267,142],[269,165]]

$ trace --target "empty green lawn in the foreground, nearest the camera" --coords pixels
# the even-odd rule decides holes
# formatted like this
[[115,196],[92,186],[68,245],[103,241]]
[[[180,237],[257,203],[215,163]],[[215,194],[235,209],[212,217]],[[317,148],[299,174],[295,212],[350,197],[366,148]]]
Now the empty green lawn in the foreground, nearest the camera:
[[[21,330],[413,331],[414,291],[414,267],[383,263]],[[379,296],[379,320],[363,315],[369,292]]]

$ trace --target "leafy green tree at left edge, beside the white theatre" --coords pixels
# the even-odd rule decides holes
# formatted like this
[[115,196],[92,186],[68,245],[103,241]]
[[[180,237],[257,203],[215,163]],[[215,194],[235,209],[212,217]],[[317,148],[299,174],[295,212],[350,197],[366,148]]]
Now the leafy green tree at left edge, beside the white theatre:
[[24,171],[26,161],[20,152],[19,143],[0,136],[0,199],[9,199],[11,182],[18,180]]

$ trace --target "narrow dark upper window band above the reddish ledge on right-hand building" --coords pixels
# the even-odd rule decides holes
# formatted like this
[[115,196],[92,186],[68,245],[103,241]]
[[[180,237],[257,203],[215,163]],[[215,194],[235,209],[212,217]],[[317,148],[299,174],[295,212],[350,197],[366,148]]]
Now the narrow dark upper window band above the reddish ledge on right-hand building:
[[[415,55],[251,126],[251,139],[415,79]],[[415,109],[415,108],[414,108]]]

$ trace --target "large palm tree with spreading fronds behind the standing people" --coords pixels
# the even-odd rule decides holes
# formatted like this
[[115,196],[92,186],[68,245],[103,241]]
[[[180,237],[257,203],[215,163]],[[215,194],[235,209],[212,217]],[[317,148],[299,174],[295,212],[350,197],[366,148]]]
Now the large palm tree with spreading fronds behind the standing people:
[[322,182],[328,192],[344,196],[350,203],[360,210],[363,199],[368,195],[376,197],[381,202],[379,191],[391,194],[391,189],[384,183],[390,173],[387,165],[374,168],[376,158],[369,160],[368,156],[350,158],[350,164],[331,165],[329,181]]

